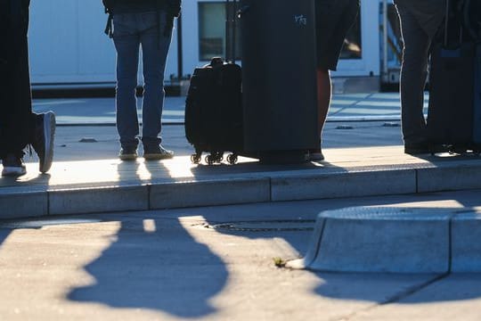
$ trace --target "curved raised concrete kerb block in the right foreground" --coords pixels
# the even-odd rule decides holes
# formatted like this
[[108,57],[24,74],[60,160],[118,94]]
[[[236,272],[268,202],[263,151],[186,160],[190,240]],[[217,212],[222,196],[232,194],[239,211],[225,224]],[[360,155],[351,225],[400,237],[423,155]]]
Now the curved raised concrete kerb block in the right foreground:
[[481,272],[475,209],[355,207],[321,212],[303,259],[288,268],[330,272]]

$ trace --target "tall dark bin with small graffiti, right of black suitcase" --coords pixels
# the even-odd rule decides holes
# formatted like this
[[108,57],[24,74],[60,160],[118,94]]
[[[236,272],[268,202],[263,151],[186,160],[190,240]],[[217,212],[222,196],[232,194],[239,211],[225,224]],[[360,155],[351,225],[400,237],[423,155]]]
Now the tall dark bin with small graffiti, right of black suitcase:
[[319,147],[314,0],[241,0],[244,148],[304,161]]

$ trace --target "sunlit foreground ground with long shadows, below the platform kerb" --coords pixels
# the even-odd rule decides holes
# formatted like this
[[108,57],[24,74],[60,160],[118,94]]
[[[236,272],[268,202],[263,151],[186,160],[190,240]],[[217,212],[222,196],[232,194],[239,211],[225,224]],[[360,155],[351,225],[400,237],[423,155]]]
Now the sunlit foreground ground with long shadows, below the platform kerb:
[[467,191],[4,221],[0,316],[481,318],[478,274],[322,273],[276,267],[276,260],[305,253],[317,213],[361,205],[481,209],[479,191]]

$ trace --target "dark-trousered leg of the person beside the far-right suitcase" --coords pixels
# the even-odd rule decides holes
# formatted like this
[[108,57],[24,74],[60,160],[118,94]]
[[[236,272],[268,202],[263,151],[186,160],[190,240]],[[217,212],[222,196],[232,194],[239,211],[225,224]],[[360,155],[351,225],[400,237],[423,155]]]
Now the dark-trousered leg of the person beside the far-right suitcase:
[[403,4],[396,8],[404,40],[400,80],[404,151],[428,152],[423,106],[431,39]]

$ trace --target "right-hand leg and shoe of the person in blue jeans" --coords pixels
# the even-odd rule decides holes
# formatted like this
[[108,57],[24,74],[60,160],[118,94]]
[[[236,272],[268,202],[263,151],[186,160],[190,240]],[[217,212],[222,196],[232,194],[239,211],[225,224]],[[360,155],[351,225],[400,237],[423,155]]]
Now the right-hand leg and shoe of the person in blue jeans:
[[[160,23],[160,28],[159,28]],[[143,157],[148,160],[171,158],[174,153],[161,143],[161,117],[164,106],[164,72],[170,47],[171,32],[164,32],[166,14],[143,13],[141,44],[143,50]],[[159,34],[159,32],[161,32]]]

